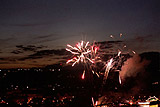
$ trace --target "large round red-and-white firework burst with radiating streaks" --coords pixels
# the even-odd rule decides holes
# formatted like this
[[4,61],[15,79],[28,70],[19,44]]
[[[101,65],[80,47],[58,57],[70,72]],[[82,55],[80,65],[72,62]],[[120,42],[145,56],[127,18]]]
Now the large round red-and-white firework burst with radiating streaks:
[[[88,42],[84,42],[84,41],[78,42],[76,46],[74,47],[68,44],[66,50],[72,53],[73,57],[69,59],[66,63],[67,64],[72,63],[72,66],[78,63],[82,63],[87,68],[89,67],[91,71],[94,73],[91,65],[95,64],[97,59],[99,59],[98,54],[97,54],[98,49],[99,47],[95,45],[91,46],[89,44],[89,41]],[[98,73],[95,73],[95,74],[99,76]],[[84,79],[84,76],[85,76],[85,70],[82,74],[82,79]]]

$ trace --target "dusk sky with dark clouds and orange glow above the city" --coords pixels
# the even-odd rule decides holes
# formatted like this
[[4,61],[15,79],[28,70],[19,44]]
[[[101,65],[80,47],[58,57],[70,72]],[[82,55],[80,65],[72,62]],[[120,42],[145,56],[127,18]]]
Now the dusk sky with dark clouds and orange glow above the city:
[[66,45],[80,40],[121,40],[137,53],[160,52],[159,4],[159,0],[0,0],[0,68],[59,63]]

